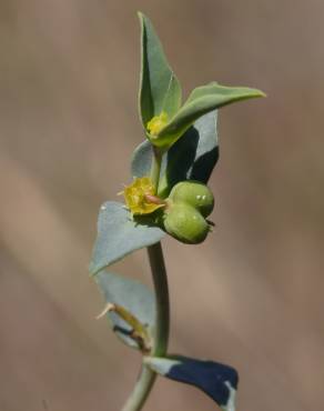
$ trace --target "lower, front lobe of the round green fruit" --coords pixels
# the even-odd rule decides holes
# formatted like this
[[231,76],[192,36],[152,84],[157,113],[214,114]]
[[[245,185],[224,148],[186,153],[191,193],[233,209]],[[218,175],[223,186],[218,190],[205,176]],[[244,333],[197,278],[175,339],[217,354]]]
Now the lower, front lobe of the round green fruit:
[[210,230],[202,214],[184,202],[170,204],[164,214],[164,228],[170,235],[188,244],[204,241]]

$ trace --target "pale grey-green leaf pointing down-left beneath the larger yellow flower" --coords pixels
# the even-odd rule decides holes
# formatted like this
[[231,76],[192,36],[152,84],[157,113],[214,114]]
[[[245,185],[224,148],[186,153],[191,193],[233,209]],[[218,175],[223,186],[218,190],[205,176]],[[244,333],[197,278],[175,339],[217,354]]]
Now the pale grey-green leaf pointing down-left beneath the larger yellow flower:
[[131,252],[155,244],[164,234],[150,218],[132,220],[122,203],[105,202],[99,212],[98,235],[89,267],[90,273],[97,274]]

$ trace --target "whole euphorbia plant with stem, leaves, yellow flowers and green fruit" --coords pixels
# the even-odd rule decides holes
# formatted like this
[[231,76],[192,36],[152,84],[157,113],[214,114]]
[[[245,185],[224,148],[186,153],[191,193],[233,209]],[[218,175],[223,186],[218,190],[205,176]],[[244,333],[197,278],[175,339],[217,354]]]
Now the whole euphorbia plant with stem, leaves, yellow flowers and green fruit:
[[[142,28],[140,117],[145,141],[133,153],[133,181],[124,203],[108,201],[100,210],[90,272],[107,301],[103,315],[117,335],[142,355],[142,369],[123,411],[142,409],[156,374],[202,389],[223,410],[234,410],[237,373],[213,361],[168,352],[170,304],[161,240],[170,234],[195,244],[213,223],[214,198],[206,187],[219,158],[217,109],[264,96],[216,82],[194,89],[182,102],[150,20]],[[146,248],[154,292],[138,281],[107,271],[131,252]]]

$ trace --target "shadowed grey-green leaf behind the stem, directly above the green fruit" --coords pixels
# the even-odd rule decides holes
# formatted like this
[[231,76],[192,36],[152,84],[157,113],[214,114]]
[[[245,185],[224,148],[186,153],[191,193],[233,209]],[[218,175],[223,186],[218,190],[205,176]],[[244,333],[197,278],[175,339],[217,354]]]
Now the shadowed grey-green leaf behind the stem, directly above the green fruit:
[[[217,113],[210,112],[199,120],[163,156],[159,193],[168,197],[179,181],[198,180],[206,183],[219,159]],[[152,146],[141,143],[133,153],[132,176],[150,174]]]

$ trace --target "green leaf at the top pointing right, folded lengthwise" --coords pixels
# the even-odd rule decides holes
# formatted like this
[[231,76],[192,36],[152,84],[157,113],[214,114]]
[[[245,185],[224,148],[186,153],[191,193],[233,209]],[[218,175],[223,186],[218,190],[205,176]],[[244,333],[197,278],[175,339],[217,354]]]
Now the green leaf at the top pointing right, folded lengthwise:
[[170,148],[201,116],[235,101],[257,97],[264,97],[264,93],[245,87],[225,87],[216,82],[199,87],[158,133],[154,144],[163,149]]

